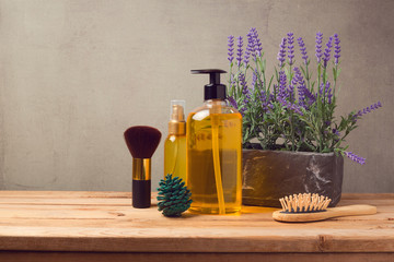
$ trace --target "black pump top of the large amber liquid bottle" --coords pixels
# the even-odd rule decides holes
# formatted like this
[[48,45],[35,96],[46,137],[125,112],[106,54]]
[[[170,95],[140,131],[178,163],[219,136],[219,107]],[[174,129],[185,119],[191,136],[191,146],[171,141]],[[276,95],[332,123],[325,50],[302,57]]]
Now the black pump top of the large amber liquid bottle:
[[224,100],[225,95],[225,85],[220,84],[220,74],[227,73],[221,69],[199,69],[192,70],[193,74],[209,74],[209,84],[204,86],[204,99],[220,99]]

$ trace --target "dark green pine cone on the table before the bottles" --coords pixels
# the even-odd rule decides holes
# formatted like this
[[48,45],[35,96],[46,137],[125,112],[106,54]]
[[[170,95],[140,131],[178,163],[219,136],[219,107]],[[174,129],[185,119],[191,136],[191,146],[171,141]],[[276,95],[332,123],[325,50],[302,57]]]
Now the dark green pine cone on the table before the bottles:
[[181,216],[192,204],[192,193],[185,187],[182,178],[172,177],[172,174],[162,179],[158,188],[158,206],[164,216]]

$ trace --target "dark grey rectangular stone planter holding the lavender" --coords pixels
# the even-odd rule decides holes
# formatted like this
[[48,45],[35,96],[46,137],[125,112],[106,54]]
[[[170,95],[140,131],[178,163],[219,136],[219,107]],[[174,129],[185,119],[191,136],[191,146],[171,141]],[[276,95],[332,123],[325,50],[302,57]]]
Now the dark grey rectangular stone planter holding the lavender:
[[242,203],[280,207],[279,199],[318,193],[340,200],[344,158],[334,153],[243,150]]

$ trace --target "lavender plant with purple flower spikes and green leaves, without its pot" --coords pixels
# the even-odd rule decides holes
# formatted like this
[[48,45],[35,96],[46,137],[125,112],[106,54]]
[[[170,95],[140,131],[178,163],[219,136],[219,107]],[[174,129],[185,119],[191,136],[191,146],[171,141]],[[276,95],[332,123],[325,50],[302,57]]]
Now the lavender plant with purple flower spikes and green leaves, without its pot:
[[[318,32],[313,60],[308,56],[302,37],[297,38],[297,43],[302,55],[300,64],[296,66],[294,35],[288,33],[279,45],[275,73],[267,79],[266,60],[256,28],[251,28],[245,39],[229,36],[228,100],[243,116],[243,147],[335,152],[363,165],[364,158],[347,151],[345,139],[357,128],[357,121],[363,115],[382,104],[378,102],[338,120],[334,116],[340,73],[338,35],[331,36],[324,47],[323,34]],[[314,79],[313,72],[316,73]],[[259,143],[253,143],[254,140]]]

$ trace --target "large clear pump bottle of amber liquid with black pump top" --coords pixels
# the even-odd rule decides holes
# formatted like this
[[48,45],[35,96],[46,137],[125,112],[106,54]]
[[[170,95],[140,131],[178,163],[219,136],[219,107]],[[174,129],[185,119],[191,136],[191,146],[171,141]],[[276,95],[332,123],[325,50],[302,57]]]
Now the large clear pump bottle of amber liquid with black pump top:
[[242,201],[242,116],[227,105],[219,69],[192,70],[209,74],[204,105],[186,121],[186,184],[192,191],[189,211],[236,214]]

